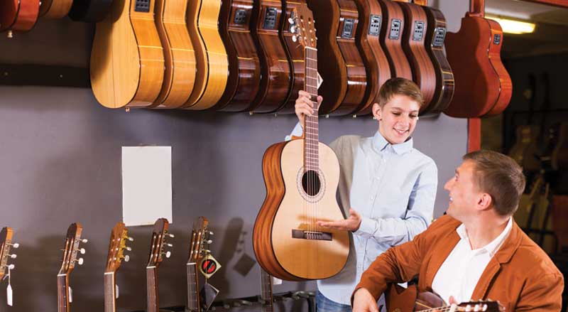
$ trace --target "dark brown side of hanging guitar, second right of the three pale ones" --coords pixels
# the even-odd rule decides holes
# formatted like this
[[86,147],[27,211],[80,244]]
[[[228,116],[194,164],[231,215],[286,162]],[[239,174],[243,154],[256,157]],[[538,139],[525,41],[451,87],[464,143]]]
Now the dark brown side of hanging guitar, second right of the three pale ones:
[[[273,28],[263,26],[268,9],[276,10]],[[280,23],[282,23],[280,0],[255,0],[251,25],[258,58],[261,61],[261,85],[251,105],[253,112],[275,112],[288,101],[291,70],[284,43],[278,36]]]

